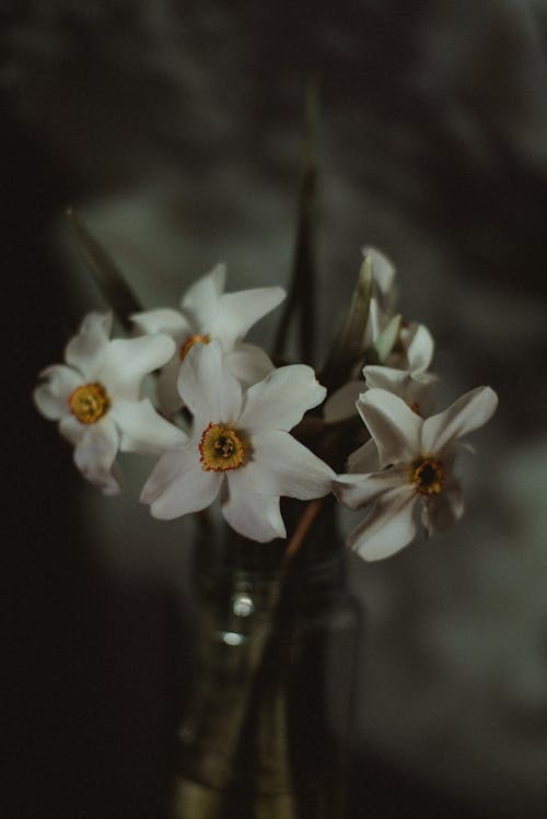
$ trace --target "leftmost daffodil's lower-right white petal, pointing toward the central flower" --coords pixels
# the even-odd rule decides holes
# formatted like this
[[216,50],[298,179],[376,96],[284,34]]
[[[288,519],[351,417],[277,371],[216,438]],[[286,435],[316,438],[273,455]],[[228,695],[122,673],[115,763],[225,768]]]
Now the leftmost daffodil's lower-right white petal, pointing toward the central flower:
[[119,448],[123,452],[160,455],[188,440],[178,426],[158,414],[149,398],[141,401],[117,401],[109,414],[119,426]]

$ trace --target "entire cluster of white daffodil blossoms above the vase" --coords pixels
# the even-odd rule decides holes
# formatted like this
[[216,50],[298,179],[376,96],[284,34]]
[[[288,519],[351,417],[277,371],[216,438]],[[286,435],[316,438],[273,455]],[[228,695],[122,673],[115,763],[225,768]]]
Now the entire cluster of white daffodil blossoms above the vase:
[[[458,438],[491,417],[497,398],[479,387],[431,414],[431,334],[395,314],[394,268],[377,250],[365,253],[374,283],[362,336],[364,347],[376,350],[375,363],[365,359],[363,377],[328,397],[318,428],[319,436],[326,428],[347,430],[347,420],[361,416],[370,438],[350,454],[347,473],[336,475],[290,432],[325,401],[314,371],[276,367],[261,348],[244,341],[284,291],[224,293],[221,265],[189,288],[179,309],[133,314],[140,336],[112,340],[110,315],[89,314],[67,346],[66,363],[40,373],[35,403],[59,422],[78,468],[105,493],[120,489],[118,451],[159,456],[141,493],[158,518],[199,512],[220,498],[230,526],[265,542],[287,537],[281,496],[309,501],[334,492],[366,511],[349,545],[366,560],[393,554],[416,535],[417,505],[430,533],[461,516],[452,475]],[[387,347],[386,335],[393,337]],[[158,408],[141,397],[151,373]],[[175,423],[182,408],[190,419],[184,429]]]

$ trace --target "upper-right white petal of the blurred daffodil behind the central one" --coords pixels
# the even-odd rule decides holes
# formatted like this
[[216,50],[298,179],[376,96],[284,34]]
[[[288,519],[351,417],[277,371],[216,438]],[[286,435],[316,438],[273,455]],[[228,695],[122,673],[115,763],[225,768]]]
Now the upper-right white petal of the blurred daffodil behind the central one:
[[224,293],[210,331],[222,340],[224,350],[229,352],[235,341],[244,338],[253,325],[271,313],[284,296],[282,288],[253,288]]

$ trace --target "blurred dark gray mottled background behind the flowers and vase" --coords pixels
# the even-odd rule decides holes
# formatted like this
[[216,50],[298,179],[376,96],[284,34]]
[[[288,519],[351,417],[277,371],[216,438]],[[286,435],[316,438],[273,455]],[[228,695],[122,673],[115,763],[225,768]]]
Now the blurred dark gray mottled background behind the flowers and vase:
[[125,459],[120,499],[85,485],[30,402],[37,372],[105,306],[62,210],[78,208],[149,306],[218,260],[230,289],[287,283],[314,78],[317,363],[374,244],[397,265],[405,315],[437,339],[441,403],[480,384],[500,397],[459,465],[458,528],[352,562],[370,622],[354,817],[546,816],[547,4],[0,9],[3,815],[161,816],[185,686],[191,533],[139,505],[150,463]]

